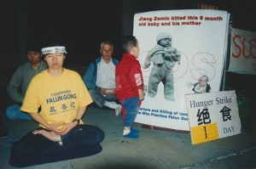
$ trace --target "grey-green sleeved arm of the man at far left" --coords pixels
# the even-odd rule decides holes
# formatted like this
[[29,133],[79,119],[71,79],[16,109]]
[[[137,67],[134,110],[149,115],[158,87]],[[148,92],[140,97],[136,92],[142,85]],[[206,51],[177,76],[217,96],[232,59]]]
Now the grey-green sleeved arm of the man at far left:
[[9,97],[18,103],[22,103],[24,99],[19,93],[19,87],[21,86],[22,82],[23,79],[21,76],[21,71],[17,69],[15,70],[9,85],[7,86],[7,93],[9,94]]

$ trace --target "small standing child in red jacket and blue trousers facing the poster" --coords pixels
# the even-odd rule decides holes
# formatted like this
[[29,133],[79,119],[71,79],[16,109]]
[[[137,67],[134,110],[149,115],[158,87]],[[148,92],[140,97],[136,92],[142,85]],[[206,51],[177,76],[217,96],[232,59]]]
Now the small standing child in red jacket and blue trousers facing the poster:
[[143,73],[141,65],[137,60],[139,54],[139,44],[137,38],[132,35],[125,35],[122,38],[124,49],[123,59],[116,66],[115,83],[116,96],[122,105],[125,138],[139,138],[139,131],[132,128],[132,124],[137,116],[143,93]]

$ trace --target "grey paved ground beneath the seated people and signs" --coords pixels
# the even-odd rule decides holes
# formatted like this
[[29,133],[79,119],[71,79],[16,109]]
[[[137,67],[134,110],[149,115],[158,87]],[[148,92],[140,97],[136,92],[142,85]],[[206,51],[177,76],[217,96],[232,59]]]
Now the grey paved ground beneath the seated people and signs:
[[[189,134],[150,130],[141,124],[135,125],[141,131],[140,138],[123,138],[122,118],[116,117],[113,110],[89,106],[83,120],[105,132],[100,154],[26,168],[256,168],[255,120],[241,120],[241,134],[195,145]],[[9,125],[9,138],[0,139],[0,168],[15,168],[8,164],[11,144],[38,124],[9,121],[6,116],[3,121]]]

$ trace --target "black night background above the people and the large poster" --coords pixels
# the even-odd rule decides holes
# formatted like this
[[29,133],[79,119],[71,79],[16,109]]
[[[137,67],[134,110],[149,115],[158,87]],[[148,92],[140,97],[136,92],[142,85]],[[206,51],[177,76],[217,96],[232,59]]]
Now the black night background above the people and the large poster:
[[256,30],[255,0],[0,0],[0,61],[6,62],[1,66],[17,67],[26,61],[26,54],[19,51],[25,50],[19,48],[22,36],[43,45],[49,40],[63,42],[68,53],[65,67],[88,66],[100,56],[105,40],[113,42],[113,57],[121,59],[119,41],[132,34],[134,14],[193,9],[199,4],[228,11],[237,29]]

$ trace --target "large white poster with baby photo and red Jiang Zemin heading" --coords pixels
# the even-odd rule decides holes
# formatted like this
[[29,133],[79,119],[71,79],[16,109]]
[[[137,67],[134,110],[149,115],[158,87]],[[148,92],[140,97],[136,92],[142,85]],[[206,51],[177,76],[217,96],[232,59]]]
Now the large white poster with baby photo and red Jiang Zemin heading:
[[210,9],[135,14],[145,85],[136,122],[189,131],[184,95],[219,91],[229,18]]

